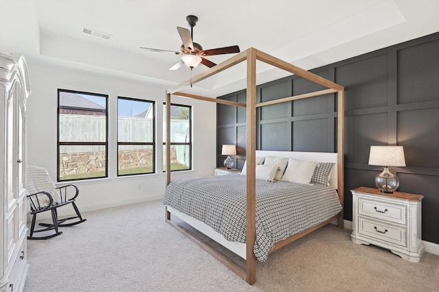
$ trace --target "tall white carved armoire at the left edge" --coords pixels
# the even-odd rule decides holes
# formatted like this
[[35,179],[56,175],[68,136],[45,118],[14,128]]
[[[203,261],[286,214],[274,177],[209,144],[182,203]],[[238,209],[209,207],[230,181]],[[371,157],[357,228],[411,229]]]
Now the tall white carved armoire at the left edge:
[[0,53],[0,292],[23,290],[28,269],[25,189],[26,101],[30,94],[24,57]]

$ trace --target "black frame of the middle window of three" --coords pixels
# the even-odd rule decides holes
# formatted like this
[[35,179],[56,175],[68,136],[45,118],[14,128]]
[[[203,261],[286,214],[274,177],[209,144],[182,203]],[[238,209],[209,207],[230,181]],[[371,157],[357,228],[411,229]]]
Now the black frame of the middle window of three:
[[[144,103],[151,103],[152,106],[152,142],[119,142],[119,99],[124,99],[128,101],[140,101]],[[137,174],[119,174],[119,146],[144,146],[144,145],[150,145],[152,146],[152,171],[151,172],[142,172]],[[116,147],[116,153],[117,153],[117,161],[116,161],[116,168],[117,168],[117,176],[123,177],[123,176],[137,176],[137,175],[144,175],[144,174],[155,174],[156,173],[156,101],[150,101],[146,99],[141,98],[131,98],[126,96],[117,96],[117,147]]]

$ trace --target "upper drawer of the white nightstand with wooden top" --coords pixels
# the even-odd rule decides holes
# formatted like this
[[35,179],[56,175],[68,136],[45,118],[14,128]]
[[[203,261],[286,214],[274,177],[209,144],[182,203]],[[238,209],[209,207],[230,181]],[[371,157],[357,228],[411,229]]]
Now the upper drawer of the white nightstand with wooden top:
[[407,206],[359,198],[359,215],[405,224]]

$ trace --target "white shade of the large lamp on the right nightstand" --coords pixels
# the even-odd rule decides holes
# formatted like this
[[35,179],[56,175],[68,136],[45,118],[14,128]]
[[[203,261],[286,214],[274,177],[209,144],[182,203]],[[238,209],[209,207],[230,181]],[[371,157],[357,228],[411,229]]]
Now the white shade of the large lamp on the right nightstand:
[[370,146],[369,165],[405,166],[403,146]]

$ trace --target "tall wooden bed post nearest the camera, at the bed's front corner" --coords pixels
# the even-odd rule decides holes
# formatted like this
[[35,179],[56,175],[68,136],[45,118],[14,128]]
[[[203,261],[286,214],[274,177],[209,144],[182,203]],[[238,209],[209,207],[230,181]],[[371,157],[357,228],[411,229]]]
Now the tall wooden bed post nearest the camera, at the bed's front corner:
[[246,225],[246,281],[256,282],[256,50],[247,50],[247,225]]

